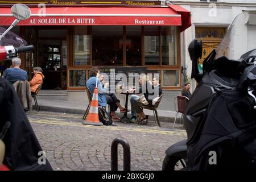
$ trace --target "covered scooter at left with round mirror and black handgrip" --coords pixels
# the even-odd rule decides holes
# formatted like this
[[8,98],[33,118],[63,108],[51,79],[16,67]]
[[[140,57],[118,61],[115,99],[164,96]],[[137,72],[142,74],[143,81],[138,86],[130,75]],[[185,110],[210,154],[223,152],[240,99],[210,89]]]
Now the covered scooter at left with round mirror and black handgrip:
[[[15,16],[11,26],[0,36],[1,39],[20,20],[30,17],[30,9],[23,4],[11,8]],[[34,46],[14,47],[0,46],[0,61],[10,60],[18,53],[33,51]],[[39,163],[42,148],[24,113],[13,86],[0,78],[0,171],[1,170],[52,170],[46,158]]]

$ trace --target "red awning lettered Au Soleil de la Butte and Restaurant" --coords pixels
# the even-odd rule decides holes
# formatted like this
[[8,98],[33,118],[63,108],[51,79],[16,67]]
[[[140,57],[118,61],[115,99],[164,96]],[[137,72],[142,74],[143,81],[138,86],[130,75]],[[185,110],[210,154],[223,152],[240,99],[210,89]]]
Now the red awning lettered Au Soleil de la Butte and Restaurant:
[[[182,14],[170,7],[31,7],[31,17],[20,26],[140,25],[183,26]],[[0,25],[9,26],[14,17],[10,7],[0,8]]]

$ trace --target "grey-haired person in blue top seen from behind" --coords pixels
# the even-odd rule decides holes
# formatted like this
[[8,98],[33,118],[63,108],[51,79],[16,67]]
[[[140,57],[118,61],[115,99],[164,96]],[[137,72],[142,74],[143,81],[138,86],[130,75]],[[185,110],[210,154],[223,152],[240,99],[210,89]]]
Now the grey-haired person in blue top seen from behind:
[[14,84],[18,80],[27,80],[27,72],[19,68],[21,64],[19,57],[14,57],[11,63],[11,67],[7,68],[3,73],[3,78],[8,80],[11,84]]

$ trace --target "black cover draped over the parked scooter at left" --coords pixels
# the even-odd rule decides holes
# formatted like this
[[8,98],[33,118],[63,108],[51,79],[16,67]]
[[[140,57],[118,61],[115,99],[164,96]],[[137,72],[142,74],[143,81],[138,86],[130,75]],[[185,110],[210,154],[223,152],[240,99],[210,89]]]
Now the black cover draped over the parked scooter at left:
[[[6,121],[11,122],[3,142],[6,145],[3,164],[11,170],[52,170],[46,159],[46,164],[39,165],[38,160],[43,151],[38,139],[27,119],[14,87],[4,78],[0,78],[0,131]],[[40,158],[41,157],[41,158]]]

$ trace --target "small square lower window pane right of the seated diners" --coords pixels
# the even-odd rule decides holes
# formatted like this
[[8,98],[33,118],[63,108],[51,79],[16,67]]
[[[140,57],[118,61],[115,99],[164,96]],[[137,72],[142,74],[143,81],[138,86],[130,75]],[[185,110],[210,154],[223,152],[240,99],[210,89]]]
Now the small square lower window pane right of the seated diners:
[[163,70],[163,86],[180,86],[178,70]]

